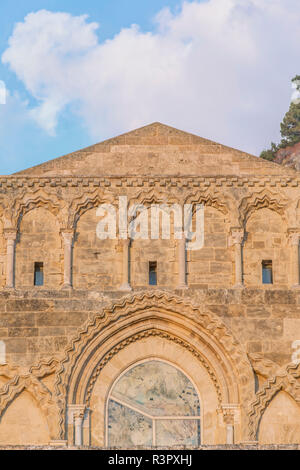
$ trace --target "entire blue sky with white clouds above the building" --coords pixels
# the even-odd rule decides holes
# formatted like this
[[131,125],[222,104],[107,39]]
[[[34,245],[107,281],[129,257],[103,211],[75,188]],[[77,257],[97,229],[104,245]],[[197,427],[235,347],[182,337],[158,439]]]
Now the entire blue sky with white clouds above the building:
[[0,174],[155,121],[259,155],[299,44],[299,0],[1,0]]

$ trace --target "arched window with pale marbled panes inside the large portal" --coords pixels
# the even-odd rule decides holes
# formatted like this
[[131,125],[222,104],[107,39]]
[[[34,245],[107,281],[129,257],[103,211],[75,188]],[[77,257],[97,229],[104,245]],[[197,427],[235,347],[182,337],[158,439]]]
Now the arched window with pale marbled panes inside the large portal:
[[200,402],[180,370],[160,360],[133,366],[113,386],[107,403],[107,445],[198,446]]

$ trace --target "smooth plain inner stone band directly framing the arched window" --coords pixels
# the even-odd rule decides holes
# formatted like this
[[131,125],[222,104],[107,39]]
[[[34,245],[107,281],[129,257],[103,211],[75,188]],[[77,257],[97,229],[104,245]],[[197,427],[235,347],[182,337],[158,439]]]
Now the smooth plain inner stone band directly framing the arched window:
[[200,395],[201,442],[206,444],[225,442],[224,432],[223,436],[219,435],[218,397],[207,370],[182,345],[166,342],[165,338],[160,336],[148,336],[121,349],[101,370],[94,385],[89,406],[91,444],[100,447],[106,445],[107,421],[105,412],[111,385],[117,381],[120,373],[137,363],[153,359],[169,363],[182,371],[188,378],[193,378],[193,384]]

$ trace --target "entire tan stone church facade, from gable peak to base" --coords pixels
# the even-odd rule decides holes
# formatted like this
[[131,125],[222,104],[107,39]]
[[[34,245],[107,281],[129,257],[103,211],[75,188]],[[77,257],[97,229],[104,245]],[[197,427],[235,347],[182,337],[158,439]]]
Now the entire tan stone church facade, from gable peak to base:
[[[0,177],[0,446],[299,444],[299,187],[159,123]],[[203,204],[204,246],[100,240],[120,196]]]

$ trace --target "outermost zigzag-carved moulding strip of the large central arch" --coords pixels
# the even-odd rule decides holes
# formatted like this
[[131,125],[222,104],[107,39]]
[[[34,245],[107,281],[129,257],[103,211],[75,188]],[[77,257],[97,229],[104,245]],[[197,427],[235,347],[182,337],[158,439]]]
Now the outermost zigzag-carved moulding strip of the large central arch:
[[[225,354],[230,358],[231,363],[236,369],[240,394],[241,397],[244,397],[243,401],[251,400],[253,384],[249,383],[251,378],[250,362],[245,351],[220,319],[211,313],[202,313],[199,306],[178,296],[161,291],[146,291],[141,294],[126,296],[119,302],[113,302],[110,307],[104,308],[103,311],[88,321],[85,327],[79,330],[78,335],[73,338],[66,348],[65,358],[61,361],[61,367],[57,371],[55,383],[55,393],[60,407],[60,434],[57,437],[61,439],[64,437],[67,390],[70,390],[70,380],[73,371],[76,369],[76,363],[89,342],[95,338],[99,331],[104,330],[106,326],[114,323],[118,318],[130,316],[137,311],[147,311],[151,307],[157,309],[158,312],[160,309],[166,309],[190,318],[202,327],[211,338],[214,338],[218,344],[221,344]],[[133,340],[130,340],[129,337],[129,342]],[[123,346],[117,347],[124,346],[126,346],[126,341]],[[74,378],[72,380],[74,382]],[[70,396],[72,397],[72,394]]]

